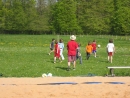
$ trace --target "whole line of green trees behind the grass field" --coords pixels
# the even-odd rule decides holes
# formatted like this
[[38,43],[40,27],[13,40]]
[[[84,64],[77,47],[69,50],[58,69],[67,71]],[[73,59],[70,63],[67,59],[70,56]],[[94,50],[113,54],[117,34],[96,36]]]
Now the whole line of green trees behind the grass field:
[[0,34],[130,35],[130,0],[1,0]]

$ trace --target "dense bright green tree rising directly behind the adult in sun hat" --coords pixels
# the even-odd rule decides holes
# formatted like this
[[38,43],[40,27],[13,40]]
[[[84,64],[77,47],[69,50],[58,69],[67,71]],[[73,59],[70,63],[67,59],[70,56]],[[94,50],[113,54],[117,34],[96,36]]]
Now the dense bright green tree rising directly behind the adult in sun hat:
[[60,0],[53,7],[52,30],[59,34],[81,33],[76,18],[76,2],[74,0]]

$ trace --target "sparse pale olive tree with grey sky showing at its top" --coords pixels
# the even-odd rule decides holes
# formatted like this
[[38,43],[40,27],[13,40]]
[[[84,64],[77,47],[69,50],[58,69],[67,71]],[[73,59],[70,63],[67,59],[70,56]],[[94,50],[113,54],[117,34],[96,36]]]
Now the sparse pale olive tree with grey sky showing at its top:
[[36,10],[37,10],[37,14],[35,20],[31,22],[31,26],[30,26],[31,29],[36,32],[38,31],[39,34],[49,32],[49,23],[48,23],[49,8],[46,0],[37,0]]

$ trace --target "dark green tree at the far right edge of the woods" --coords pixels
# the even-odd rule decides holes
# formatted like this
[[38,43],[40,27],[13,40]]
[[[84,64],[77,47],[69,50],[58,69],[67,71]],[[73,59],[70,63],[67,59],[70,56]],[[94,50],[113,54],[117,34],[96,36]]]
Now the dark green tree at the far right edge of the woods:
[[112,33],[116,35],[130,34],[130,1],[113,0],[114,15],[111,18]]

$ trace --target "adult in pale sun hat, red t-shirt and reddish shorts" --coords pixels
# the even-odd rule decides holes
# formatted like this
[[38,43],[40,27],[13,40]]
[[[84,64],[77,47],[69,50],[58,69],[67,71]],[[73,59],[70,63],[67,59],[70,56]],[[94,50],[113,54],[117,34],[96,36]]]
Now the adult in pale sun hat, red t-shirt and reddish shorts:
[[70,41],[67,43],[67,51],[68,51],[68,71],[70,70],[70,63],[73,64],[73,69],[76,67],[76,49],[78,48],[78,44],[75,41],[76,36],[70,36]]

